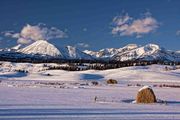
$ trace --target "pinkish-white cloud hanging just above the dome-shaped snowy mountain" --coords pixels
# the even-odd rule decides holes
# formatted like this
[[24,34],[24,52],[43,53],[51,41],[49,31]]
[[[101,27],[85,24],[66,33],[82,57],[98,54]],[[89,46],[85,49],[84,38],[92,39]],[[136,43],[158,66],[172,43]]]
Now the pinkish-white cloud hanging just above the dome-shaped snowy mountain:
[[17,38],[17,42],[21,44],[28,44],[37,40],[50,40],[56,38],[66,38],[67,34],[56,27],[46,27],[45,24],[24,26],[20,33],[13,31],[6,31],[4,35],[7,37]]

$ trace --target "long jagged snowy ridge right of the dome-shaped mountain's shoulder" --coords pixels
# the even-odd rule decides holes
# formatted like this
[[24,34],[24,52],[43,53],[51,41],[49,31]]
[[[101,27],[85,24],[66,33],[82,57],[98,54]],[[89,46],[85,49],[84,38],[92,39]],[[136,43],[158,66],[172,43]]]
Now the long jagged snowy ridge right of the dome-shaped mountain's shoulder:
[[166,50],[156,44],[147,44],[138,46],[129,44],[125,47],[115,49],[107,48],[98,52],[84,51],[87,54],[96,57],[97,59],[115,60],[115,61],[130,61],[130,60],[162,60],[162,61],[180,61],[180,53]]

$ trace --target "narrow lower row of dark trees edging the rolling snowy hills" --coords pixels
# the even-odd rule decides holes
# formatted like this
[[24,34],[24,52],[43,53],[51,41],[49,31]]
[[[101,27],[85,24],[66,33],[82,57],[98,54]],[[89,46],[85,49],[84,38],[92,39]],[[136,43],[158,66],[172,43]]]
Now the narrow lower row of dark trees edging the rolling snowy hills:
[[67,71],[81,71],[81,70],[107,70],[115,69],[128,66],[146,66],[152,64],[164,64],[164,65],[176,65],[174,62],[160,62],[160,61],[126,61],[126,62],[103,62],[103,63],[80,63],[80,62],[71,62],[67,63],[66,66],[51,66],[49,69],[61,69]]

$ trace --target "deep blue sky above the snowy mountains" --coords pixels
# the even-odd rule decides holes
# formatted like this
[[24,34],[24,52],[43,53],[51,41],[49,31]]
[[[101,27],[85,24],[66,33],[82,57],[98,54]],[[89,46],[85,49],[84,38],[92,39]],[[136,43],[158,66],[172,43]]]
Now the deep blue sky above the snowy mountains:
[[[99,50],[130,43],[155,43],[180,50],[179,6],[179,0],[1,0],[0,48],[18,44],[18,37],[4,33],[20,33],[27,24],[38,26],[43,23],[46,28],[55,27],[68,36],[52,37],[49,42],[56,46]],[[117,17],[120,21],[124,16],[132,18],[125,23],[128,27],[112,34],[113,28],[122,27],[113,19]],[[141,29],[138,25],[145,18],[152,18],[154,22]],[[138,21],[140,23],[136,24]],[[141,30],[134,31],[133,26]]]

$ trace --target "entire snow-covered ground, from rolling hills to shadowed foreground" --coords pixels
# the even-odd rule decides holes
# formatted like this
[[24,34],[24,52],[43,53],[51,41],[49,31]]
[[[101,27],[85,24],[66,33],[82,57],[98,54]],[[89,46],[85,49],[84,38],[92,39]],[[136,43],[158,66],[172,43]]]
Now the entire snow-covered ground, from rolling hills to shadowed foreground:
[[[1,65],[0,120],[180,119],[180,88],[157,86],[180,85],[180,69],[167,71],[165,66],[151,65],[68,72],[45,70],[43,66],[8,62]],[[107,85],[105,81],[110,78],[118,80],[118,84]],[[143,85],[151,85],[156,97],[165,102],[132,103]]]

